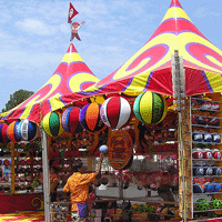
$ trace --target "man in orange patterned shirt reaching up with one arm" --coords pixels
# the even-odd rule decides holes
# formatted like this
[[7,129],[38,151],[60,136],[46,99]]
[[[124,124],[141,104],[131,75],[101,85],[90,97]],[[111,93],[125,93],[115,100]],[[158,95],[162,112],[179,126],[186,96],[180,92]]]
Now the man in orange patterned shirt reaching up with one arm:
[[75,161],[73,174],[68,179],[63,192],[71,194],[72,201],[72,222],[84,221],[87,216],[87,200],[89,195],[89,185],[101,175],[101,165],[104,154],[100,153],[100,161],[95,173],[83,173],[81,160]]

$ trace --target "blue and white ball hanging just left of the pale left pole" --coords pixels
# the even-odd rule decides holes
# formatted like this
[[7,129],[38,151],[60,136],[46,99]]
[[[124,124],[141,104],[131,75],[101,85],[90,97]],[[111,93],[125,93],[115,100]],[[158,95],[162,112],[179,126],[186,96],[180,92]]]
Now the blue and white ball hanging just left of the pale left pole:
[[39,137],[39,128],[37,123],[31,122],[27,119],[22,120],[19,123],[17,130],[19,137],[26,141],[31,141]]

